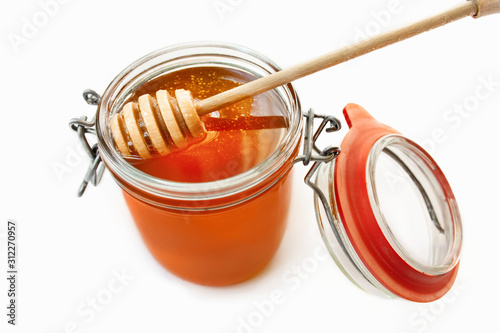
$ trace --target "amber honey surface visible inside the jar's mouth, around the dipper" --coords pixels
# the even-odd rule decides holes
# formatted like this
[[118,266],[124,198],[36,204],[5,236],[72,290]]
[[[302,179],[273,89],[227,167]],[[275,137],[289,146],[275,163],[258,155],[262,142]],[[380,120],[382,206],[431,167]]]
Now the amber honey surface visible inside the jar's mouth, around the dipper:
[[[160,89],[191,91],[195,100],[229,90],[255,77],[223,67],[193,67],[165,74],[143,84],[128,101]],[[283,108],[271,93],[248,98],[203,116],[203,140],[152,159],[129,159],[137,169],[177,182],[210,182],[245,172],[267,158],[286,132]]]

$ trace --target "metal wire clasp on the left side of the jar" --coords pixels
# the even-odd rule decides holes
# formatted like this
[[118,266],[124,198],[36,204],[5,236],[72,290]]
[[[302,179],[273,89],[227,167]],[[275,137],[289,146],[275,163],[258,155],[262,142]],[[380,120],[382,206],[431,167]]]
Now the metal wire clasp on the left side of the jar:
[[[101,96],[93,90],[87,89],[83,92],[83,99],[89,105],[99,105],[99,101]],[[97,148],[97,143],[90,144],[87,140],[86,134],[92,134],[96,136],[96,115],[92,120],[88,121],[87,116],[81,116],[80,118],[73,118],[69,121],[69,126],[72,130],[76,131],[78,134],[78,138],[80,139],[80,143],[83,148],[87,152],[90,157],[90,165],[85,174],[85,177],[78,189],[78,196],[81,197],[85,192],[87,185],[92,183],[92,185],[96,186],[102,179],[102,175],[104,173],[105,167],[104,164],[101,164],[101,156],[99,155],[99,149]]]

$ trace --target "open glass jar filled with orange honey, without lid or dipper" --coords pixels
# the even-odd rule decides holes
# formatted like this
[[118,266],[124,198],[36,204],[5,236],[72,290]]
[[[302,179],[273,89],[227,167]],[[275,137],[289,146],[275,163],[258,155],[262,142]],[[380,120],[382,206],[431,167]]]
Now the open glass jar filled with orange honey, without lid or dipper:
[[[148,249],[183,279],[238,283],[262,270],[278,249],[301,138],[297,94],[288,84],[204,116],[203,138],[149,159],[117,151],[110,118],[125,103],[159,89],[182,88],[204,99],[278,70],[239,46],[181,45],[133,63],[101,98],[100,156],[123,189]],[[249,125],[248,119],[266,122]],[[145,141],[150,144],[147,136]]]

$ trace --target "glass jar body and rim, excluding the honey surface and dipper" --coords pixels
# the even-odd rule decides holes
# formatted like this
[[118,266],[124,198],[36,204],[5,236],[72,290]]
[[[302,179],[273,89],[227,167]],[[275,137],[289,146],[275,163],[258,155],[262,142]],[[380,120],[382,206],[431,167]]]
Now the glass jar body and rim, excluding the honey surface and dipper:
[[122,71],[103,94],[96,132],[99,154],[123,194],[156,260],[179,277],[203,285],[244,281],[271,260],[281,242],[298,154],[302,114],[291,84],[269,92],[288,126],[277,148],[236,176],[205,183],[155,178],[127,163],[113,144],[109,122],[142,84],[191,67],[223,67],[259,78],[279,70],[241,46],[183,44],[153,52]]

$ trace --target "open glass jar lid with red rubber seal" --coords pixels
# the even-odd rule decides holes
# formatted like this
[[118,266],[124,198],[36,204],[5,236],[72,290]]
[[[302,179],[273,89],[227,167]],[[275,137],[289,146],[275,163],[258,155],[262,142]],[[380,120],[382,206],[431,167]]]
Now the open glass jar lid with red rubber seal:
[[327,248],[362,289],[440,298],[456,278],[462,243],[449,183],[423,148],[359,105],[347,105],[344,116],[342,153],[319,168],[315,183],[327,201],[315,198]]

